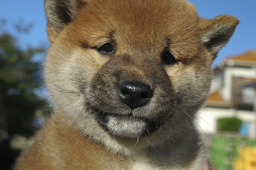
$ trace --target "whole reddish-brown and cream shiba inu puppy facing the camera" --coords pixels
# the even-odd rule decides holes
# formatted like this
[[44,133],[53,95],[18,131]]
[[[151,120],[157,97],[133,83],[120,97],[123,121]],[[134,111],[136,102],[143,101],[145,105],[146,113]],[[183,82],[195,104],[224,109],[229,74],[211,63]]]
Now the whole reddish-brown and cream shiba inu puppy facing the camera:
[[195,113],[239,21],[185,0],[45,0],[55,113],[16,170],[209,170]]

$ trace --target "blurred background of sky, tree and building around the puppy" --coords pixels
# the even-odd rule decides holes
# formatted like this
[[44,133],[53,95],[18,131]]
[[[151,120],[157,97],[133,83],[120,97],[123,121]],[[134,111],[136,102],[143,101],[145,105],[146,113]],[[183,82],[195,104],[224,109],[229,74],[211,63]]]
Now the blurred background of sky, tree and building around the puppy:
[[[256,170],[256,0],[190,0],[198,14],[240,24],[212,65],[207,104],[195,122],[217,170]],[[0,0],[0,170],[51,113],[43,80],[49,42],[43,0]]]

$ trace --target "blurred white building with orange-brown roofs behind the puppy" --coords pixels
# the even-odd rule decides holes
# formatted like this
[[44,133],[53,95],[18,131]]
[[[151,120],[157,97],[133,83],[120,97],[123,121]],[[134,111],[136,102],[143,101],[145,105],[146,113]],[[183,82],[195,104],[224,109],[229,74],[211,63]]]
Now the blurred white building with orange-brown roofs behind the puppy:
[[256,51],[227,58],[214,68],[207,105],[196,122],[206,134],[217,132],[217,119],[236,116],[256,138]]

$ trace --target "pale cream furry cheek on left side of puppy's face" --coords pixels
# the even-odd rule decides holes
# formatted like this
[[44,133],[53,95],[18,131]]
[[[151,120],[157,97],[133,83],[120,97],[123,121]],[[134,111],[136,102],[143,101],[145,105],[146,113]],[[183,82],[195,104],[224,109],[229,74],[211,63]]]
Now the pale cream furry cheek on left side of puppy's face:
[[47,58],[46,82],[57,108],[75,116],[75,111],[83,112],[90,80],[106,61],[92,49],[72,48],[69,52],[62,49],[52,48],[54,55]]

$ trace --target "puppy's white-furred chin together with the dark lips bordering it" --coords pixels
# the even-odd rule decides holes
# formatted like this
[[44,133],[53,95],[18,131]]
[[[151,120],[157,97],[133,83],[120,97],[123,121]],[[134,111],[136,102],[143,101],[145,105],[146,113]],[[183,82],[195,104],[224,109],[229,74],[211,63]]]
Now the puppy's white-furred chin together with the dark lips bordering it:
[[[101,109],[102,110],[102,109]],[[149,136],[162,125],[162,117],[152,116],[159,114],[145,114],[145,111],[104,112],[98,108],[91,108],[91,113],[99,125],[114,137],[138,138]]]

